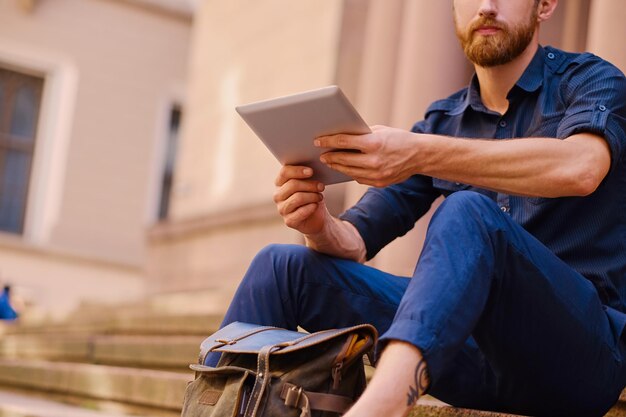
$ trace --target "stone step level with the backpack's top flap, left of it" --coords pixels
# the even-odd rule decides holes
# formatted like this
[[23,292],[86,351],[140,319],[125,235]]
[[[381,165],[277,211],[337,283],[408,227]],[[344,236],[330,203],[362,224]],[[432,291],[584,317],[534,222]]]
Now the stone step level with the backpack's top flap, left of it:
[[0,358],[187,370],[205,337],[12,334],[0,339]]

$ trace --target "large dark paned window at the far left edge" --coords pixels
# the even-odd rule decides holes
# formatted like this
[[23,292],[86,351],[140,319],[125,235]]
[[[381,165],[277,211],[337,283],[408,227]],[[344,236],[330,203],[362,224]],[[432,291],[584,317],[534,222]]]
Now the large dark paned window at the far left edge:
[[0,230],[21,234],[44,80],[0,68]]

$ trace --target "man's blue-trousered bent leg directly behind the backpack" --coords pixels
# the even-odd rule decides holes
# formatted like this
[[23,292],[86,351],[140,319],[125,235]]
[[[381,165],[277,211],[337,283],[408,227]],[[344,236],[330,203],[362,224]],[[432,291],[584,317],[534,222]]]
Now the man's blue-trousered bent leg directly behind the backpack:
[[[303,246],[270,245],[252,261],[222,326],[233,321],[314,332],[371,323],[386,331],[409,278]],[[215,366],[219,354],[210,354]]]

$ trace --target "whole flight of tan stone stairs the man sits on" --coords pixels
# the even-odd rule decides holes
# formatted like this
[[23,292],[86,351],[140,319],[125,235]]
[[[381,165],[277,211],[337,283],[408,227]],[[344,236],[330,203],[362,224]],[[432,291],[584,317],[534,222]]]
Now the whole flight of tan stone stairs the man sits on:
[[[185,387],[193,379],[188,364],[197,361],[200,342],[220,318],[123,315],[0,328],[0,417],[98,417],[94,409],[102,410],[101,417],[180,415]],[[13,398],[7,402],[3,389],[20,392],[5,393]],[[29,408],[24,398],[38,405]],[[46,414],[41,401],[65,411]],[[96,414],[80,414],[87,412]],[[428,397],[410,415],[506,416],[457,409]],[[626,395],[607,416],[626,416]]]

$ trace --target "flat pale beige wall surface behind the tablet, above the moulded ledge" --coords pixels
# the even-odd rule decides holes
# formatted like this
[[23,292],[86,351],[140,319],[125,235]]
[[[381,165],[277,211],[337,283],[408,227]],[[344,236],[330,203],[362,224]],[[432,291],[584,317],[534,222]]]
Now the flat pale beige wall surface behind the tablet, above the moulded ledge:
[[335,75],[340,1],[202,5],[173,219],[268,202],[279,165],[235,106],[328,85]]

